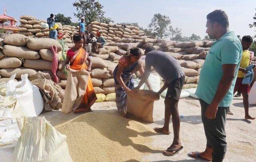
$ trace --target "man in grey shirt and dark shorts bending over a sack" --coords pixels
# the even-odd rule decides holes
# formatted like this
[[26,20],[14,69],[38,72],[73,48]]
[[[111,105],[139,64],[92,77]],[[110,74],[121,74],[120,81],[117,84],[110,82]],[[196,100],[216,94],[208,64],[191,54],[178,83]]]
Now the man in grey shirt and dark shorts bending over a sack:
[[165,156],[174,156],[182,150],[180,142],[180,117],[178,112],[178,102],[180,99],[180,93],[185,80],[185,74],[178,62],[168,54],[162,51],[156,51],[154,47],[147,47],[146,54],[146,70],[142,76],[139,85],[134,90],[139,90],[142,84],[148,79],[150,75],[151,66],[158,72],[158,74],[166,80],[164,86],[159,90],[161,94],[166,88],[166,98],[164,100],[165,112],[164,112],[164,127],[154,128],[156,132],[164,134],[170,134],[169,123],[172,116],[172,126],[174,132],[174,139],[169,148],[163,152]]

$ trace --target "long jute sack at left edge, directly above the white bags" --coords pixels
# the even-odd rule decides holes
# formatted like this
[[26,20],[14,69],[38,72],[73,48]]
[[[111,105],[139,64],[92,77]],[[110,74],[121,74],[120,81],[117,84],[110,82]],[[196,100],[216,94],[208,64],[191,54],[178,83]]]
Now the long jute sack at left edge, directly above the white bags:
[[6,78],[10,78],[13,74],[16,74],[15,78],[20,79],[22,74],[36,74],[36,70],[28,69],[28,68],[7,68],[7,69],[1,69],[0,75]]

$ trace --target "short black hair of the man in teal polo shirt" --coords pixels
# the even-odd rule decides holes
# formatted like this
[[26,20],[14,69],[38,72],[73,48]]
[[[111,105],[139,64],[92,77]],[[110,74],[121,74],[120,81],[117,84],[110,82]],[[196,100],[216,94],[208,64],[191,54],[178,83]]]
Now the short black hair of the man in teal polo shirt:
[[224,28],[228,28],[228,15],[223,10],[214,10],[210,14],[207,15],[207,20],[210,20],[212,23],[217,22]]

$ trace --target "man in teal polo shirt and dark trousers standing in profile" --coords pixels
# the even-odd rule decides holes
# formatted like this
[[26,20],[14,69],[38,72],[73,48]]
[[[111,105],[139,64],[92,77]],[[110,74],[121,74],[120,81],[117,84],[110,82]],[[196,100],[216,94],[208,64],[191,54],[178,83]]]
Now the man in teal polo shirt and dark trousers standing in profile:
[[226,115],[233,99],[242,45],[234,32],[229,31],[228,16],[223,10],[207,15],[206,33],[216,41],[206,56],[196,95],[200,98],[201,116],[206,135],[206,150],[190,152],[196,158],[222,162],[226,143]]

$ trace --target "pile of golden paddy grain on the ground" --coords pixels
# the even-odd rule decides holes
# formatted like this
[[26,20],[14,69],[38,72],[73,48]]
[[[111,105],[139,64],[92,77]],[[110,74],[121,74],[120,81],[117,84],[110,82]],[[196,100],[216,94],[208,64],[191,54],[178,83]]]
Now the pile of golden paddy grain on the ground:
[[121,116],[90,112],[56,129],[67,136],[74,162],[141,161],[143,156],[157,152],[150,146],[155,132]]

